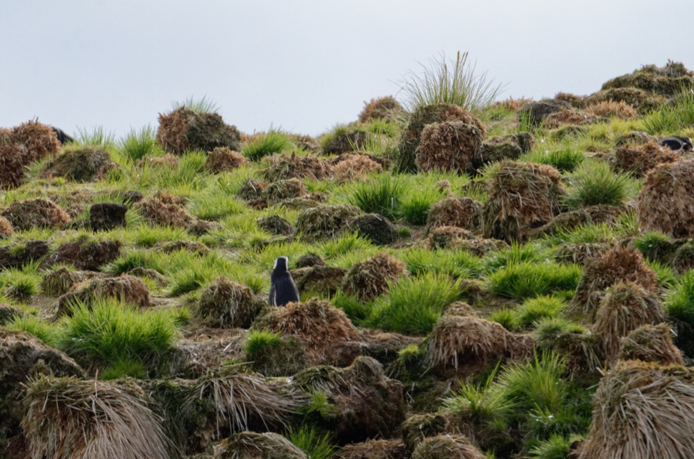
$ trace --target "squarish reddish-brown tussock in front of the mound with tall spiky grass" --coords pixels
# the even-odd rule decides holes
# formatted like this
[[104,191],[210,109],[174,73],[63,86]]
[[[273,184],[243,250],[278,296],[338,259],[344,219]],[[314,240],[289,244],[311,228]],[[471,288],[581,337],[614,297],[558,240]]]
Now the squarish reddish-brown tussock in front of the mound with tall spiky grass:
[[463,121],[428,124],[422,130],[414,163],[424,172],[471,172],[482,140],[482,131]]

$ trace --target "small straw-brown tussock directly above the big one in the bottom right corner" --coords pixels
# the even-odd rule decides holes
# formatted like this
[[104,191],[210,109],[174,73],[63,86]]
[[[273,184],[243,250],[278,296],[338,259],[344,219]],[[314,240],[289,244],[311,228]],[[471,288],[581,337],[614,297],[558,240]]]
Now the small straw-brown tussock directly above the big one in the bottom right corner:
[[682,352],[672,343],[669,324],[642,325],[621,340],[619,360],[640,360],[661,365],[684,365]]

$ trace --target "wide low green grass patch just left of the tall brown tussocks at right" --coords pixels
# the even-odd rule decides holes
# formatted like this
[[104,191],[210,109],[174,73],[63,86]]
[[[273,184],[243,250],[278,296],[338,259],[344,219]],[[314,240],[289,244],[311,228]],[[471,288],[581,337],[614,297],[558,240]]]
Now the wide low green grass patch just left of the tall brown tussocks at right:
[[538,295],[575,291],[582,269],[577,265],[523,261],[507,266],[487,277],[491,291],[514,300]]

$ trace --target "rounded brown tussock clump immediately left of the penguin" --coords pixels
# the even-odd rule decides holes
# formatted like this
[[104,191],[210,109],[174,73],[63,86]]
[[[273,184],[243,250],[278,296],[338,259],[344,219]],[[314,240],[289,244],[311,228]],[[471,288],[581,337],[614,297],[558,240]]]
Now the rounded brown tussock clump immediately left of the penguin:
[[219,277],[201,293],[198,314],[214,327],[248,328],[263,306],[251,288]]

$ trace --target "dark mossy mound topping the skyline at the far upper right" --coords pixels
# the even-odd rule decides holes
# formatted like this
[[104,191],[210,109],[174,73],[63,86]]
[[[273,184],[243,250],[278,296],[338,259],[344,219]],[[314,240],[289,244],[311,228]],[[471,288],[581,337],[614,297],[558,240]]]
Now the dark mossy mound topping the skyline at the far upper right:
[[641,69],[606,81],[601,89],[633,87],[659,96],[672,97],[682,87],[694,84],[694,72],[688,71],[681,62],[671,60],[664,67],[644,65]]

